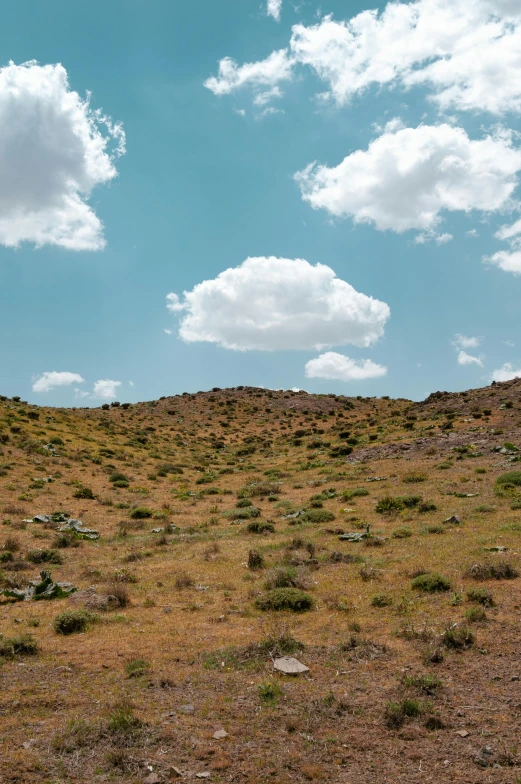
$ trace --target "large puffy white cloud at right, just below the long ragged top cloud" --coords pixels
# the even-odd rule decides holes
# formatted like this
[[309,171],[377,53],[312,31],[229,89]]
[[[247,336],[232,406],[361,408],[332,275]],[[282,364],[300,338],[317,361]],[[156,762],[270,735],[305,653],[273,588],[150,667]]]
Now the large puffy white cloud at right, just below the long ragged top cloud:
[[380,230],[429,232],[444,211],[507,208],[519,170],[521,150],[510,132],[473,141],[444,123],[385,132],[338,166],[312,163],[295,179],[314,209]]

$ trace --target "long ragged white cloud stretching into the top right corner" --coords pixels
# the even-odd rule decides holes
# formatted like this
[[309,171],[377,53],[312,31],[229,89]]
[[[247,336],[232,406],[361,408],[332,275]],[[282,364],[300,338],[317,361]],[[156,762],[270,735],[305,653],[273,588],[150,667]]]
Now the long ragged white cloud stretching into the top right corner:
[[[442,110],[521,111],[518,0],[389,2],[381,12],[362,11],[346,21],[325,16],[315,25],[295,25],[281,52],[286,67],[271,72],[271,85],[294,76],[297,65],[307,66],[326,84],[322,97],[338,105],[370,86],[422,84]],[[225,58],[219,78],[206,86],[218,94],[255,87],[256,68],[269,60],[238,66]],[[219,91],[223,79],[227,88]]]

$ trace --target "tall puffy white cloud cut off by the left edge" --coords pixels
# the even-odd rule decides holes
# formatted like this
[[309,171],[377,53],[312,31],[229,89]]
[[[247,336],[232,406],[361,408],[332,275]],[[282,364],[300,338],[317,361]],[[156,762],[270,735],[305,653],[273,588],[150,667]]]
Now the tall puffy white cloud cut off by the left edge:
[[103,248],[87,199],[124,152],[121,125],[70,89],[63,66],[0,68],[0,244]]

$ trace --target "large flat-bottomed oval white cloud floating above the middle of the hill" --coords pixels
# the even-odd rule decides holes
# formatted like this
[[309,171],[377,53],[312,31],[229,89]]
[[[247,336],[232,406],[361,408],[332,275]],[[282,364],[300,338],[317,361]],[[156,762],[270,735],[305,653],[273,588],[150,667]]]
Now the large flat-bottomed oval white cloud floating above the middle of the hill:
[[248,258],[183,293],[167,307],[183,311],[179,336],[234,350],[369,346],[390,316],[385,302],[357,292],[324,264]]

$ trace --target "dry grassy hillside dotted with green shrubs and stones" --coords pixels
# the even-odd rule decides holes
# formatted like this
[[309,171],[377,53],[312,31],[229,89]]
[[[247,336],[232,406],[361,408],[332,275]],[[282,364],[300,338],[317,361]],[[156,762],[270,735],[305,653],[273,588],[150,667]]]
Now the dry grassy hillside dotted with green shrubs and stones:
[[0,396],[0,781],[521,781],[520,450],[519,379]]

